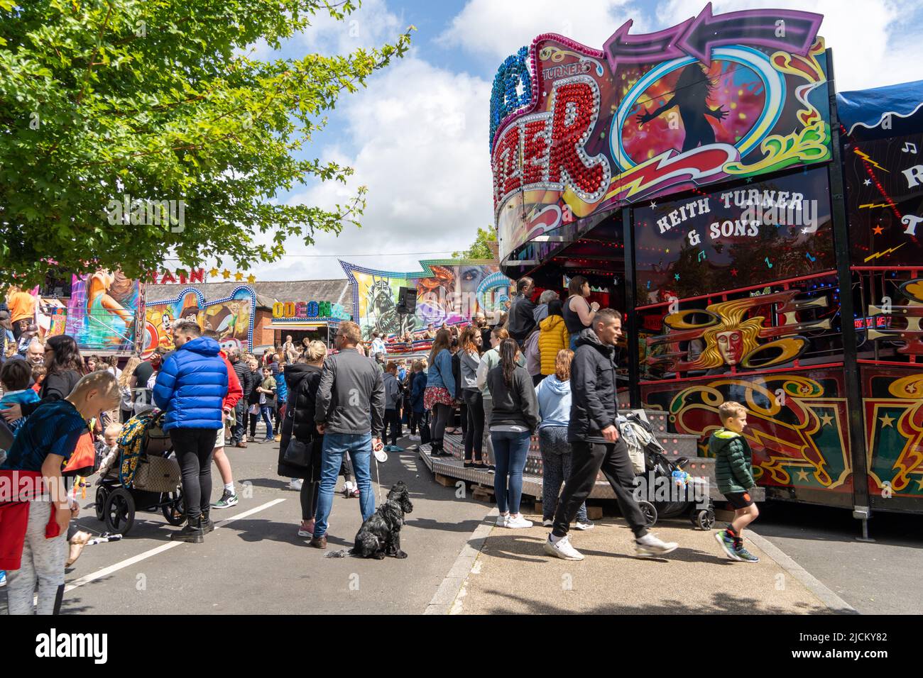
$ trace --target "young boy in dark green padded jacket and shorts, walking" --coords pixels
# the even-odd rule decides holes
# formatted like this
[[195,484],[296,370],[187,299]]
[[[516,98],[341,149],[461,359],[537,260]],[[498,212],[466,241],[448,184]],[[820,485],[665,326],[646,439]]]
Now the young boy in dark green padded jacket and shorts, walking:
[[734,506],[734,520],[727,529],[716,532],[714,538],[731,560],[759,563],[760,559],[743,545],[744,528],[760,515],[750,496],[750,490],[756,487],[751,471],[752,453],[742,435],[747,426],[747,409],[738,402],[727,401],[718,407],[718,416],[724,428],[712,434],[708,449],[714,455],[718,492]]

